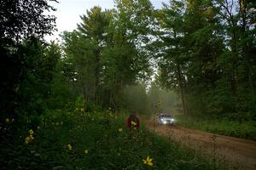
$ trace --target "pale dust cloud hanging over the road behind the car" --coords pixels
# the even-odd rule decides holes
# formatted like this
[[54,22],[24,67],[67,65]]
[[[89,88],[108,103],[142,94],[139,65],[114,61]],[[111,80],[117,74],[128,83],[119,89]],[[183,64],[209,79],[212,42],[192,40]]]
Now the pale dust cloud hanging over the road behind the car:
[[139,84],[126,86],[122,94],[125,108],[139,115],[150,116],[159,111],[172,115],[181,113],[180,99],[170,89],[150,87],[147,90],[145,85]]

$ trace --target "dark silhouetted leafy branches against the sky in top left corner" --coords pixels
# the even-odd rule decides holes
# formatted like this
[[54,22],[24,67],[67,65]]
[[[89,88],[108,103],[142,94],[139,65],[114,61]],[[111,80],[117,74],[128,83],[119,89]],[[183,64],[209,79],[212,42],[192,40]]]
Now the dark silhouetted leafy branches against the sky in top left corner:
[[0,3],[0,39],[1,45],[6,42],[5,47],[11,41],[19,43],[23,37],[44,37],[55,29],[55,16],[44,14],[55,10],[47,1],[1,0]]

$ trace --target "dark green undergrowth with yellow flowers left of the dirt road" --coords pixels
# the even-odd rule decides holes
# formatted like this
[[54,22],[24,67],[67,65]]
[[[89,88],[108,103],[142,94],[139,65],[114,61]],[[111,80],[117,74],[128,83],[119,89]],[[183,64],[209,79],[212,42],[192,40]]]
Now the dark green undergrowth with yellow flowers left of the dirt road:
[[[3,169],[224,169],[195,150],[140,130],[125,128],[125,114],[49,111],[38,125],[3,122],[0,163]],[[25,144],[29,130],[32,141]],[[122,130],[121,130],[122,129]],[[72,150],[68,150],[68,144]],[[88,150],[88,154],[84,153]],[[153,166],[143,164],[147,156]]]

